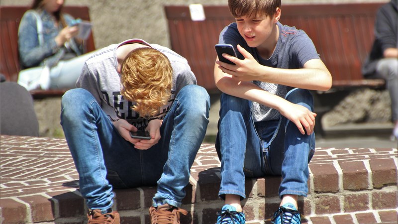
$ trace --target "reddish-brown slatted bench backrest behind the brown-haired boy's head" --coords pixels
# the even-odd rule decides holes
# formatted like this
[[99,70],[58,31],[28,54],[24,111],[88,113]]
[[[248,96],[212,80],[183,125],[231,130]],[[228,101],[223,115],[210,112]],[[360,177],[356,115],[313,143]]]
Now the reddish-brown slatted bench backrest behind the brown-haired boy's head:
[[[304,30],[333,76],[333,86],[364,85],[361,66],[371,49],[378,3],[285,4],[281,23]],[[234,18],[227,5],[203,6],[204,21],[192,21],[189,6],[165,6],[171,46],[186,57],[198,84],[216,91],[214,44]],[[368,85],[383,85],[383,81]]]

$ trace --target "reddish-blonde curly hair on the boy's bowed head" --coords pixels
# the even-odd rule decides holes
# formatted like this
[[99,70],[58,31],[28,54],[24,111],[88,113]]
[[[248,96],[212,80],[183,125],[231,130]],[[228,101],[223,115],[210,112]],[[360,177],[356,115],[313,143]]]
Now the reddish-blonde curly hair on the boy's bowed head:
[[136,104],[141,117],[155,116],[171,96],[173,69],[162,52],[141,47],[131,51],[121,65],[121,95]]

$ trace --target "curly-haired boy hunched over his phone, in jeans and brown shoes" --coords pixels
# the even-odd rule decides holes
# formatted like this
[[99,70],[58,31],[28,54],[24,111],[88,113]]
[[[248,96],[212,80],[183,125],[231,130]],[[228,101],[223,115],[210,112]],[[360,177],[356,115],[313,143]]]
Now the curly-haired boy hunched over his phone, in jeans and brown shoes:
[[[113,188],[156,185],[152,224],[180,223],[190,168],[203,140],[207,92],[187,60],[172,50],[130,39],[89,58],[76,89],[62,97],[61,124],[88,224],[119,224]],[[150,139],[132,138],[146,130]]]

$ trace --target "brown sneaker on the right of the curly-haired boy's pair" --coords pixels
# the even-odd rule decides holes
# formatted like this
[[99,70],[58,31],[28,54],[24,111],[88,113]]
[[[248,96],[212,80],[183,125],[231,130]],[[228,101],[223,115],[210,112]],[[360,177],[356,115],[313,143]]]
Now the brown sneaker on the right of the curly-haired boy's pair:
[[184,216],[188,215],[186,210],[169,206],[169,204],[149,208],[151,224],[180,224],[180,213]]

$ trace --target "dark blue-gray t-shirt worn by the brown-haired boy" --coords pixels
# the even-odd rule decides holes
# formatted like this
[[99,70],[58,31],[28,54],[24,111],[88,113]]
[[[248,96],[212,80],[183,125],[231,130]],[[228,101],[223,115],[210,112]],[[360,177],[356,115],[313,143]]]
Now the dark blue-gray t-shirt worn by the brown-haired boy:
[[[277,23],[279,27],[279,39],[272,56],[268,59],[262,58],[256,48],[249,47],[246,41],[239,34],[236,23],[226,26],[220,33],[220,44],[232,44],[235,48],[236,55],[240,59],[244,59],[243,55],[237,51],[236,45],[245,48],[253,57],[261,64],[274,68],[298,69],[302,68],[305,62],[311,59],[320,59],[316,52],[315,46],[308,35],[303,31]],[[266,83],[253,81],[261,89],[269,93],[285,98],[286,94],[292,90],[292,87],[278,85],[274,83]],[[254,121],[276,120],[279,119],[280,113],[270,107],[253,102],[251,108]]]

